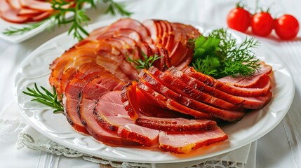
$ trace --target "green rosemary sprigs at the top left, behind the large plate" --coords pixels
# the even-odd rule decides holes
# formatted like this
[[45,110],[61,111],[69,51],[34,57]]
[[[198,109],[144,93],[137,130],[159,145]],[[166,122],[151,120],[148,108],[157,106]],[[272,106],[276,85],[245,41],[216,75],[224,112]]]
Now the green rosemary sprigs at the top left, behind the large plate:
[[[42,20],[41,22],[36,22],[33,24],[29,24],[28,26],[22,28],[9,27],[3,31],[3,34],[8,36],[15,34],[24,34],[27,31],[31,31],[36,27],[43,25],[45,22],[51,22],[49,27],[53,27],[55,23],[58,23],[58,26],[71,24],[69,27],[68,34],[72,34],[74,38],[78,40],[82,40],[83,36],[88,35],[88,31],[83,28],[83,26],[87,25],[87,22],[90,21],[90,18],[85,13],[85,9],[83,6],[85,4],[90,4],[91,8],[96,8],[96,3],[100,0],[76,0],[76,1],[64,1],[64,0],[53,0],[49,1],[54,12],[51,14],[49,18],[46,20]],[[128,12],[124,8],[123,5],[114,2],[113,0],[102,0],[104,3],[109,3],[109,7],[105,13],[109,13],[112,15],[116,15],[116,13],[120,13],[121,15],[130,16],[132,13]],[[66,8],[69,6],[69,8]],[[72,13],[73,17],[67,18],[67,15]]]

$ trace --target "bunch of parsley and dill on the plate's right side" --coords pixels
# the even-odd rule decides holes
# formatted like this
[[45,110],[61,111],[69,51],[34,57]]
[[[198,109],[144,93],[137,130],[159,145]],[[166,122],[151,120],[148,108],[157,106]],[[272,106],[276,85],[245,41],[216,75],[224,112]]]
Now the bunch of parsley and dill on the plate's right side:
[[245,38],[238,44],[227,29],[215,29],[208,36],[199,36],[192,41],[194,57],[191,65],[214,78],[224,76],[253,76],[260,68],[251,48],[259,45],[254,38]]

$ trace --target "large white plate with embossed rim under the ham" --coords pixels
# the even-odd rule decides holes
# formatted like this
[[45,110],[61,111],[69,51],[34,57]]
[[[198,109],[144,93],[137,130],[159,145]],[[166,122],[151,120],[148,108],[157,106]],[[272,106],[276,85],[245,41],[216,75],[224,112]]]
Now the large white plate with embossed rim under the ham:
[[[95,29],[103,25],[109,25],[112,20],[99,22],[89,26],[89,29]],[[197,26],[201,32],[207,31],[210,27]],[[243,41],[245,35],[232,31],[238,41]],[[280,55],[273,52],[262,43],[255,50],[257,57],[272,65],[274,72],[274,82],[272,87],[273,97],[271,102],[260,111],[253,111],[238,123],[233,123],[222,127],[228,136],[227,141],[200,148],[189,155],[174,155],[172,153],[160,151],[157,148],[127,148],[107,146],[93,137],[75,132],[70,127],[65,116],[62,114],[53,114],[52,109],[48,109],[41,104],[31,102],[31,97],[22,94],[26,87],[37,85],[46,86],[49,90],[48,76],[50,74],[49,64],[55,57],[60,57],[62,52],[74,45],[76,41],[67,34],[61,34],[50,41],[44,43],[34,50],[22,63],[15,77],[14,92],[20,111],[25,120],[37,131],[44,134],[49,139],[58,142],[69,148],[73,148],[82,153],[94,155],[96,157],[109,160],[127,161],[127,162],[185,162],[190,160],[199,160],[203,158],[220,155],[233,151],[236,148],[246,146],[251,142],[271,131],[280,123],[286,115],[293,95],[295,85],[288,68],[278,58]]]

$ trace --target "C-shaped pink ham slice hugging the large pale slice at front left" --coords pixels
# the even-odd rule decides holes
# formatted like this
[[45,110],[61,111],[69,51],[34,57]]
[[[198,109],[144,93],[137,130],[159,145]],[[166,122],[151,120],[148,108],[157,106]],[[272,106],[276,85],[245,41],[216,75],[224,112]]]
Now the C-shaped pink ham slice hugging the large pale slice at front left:
[[98,98],[111,90],[121,90],[123,85],[125,85],[123,81],[108,74],[94,78],[83,87],[81,92],[78,113],[81,123],[92,137],[105,144],[137,145],[136,142],[122,139],[114,132],[101,127],[93,115]]

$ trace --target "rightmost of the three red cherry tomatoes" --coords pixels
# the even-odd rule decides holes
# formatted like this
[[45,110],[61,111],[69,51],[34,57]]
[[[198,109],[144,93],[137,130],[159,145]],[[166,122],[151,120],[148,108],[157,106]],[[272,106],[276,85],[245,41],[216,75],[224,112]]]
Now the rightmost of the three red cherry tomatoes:
[[291,40],[298,34],[299,22],[292,15],[283,15],[276,19],[275,31],[283,40]]

